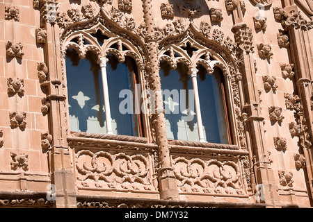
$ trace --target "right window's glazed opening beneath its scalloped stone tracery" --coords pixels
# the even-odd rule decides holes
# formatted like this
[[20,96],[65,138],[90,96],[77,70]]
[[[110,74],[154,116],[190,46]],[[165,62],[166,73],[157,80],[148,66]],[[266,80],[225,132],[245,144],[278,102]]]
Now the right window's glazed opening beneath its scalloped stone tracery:
[[177,63],[175,70],[170,69],[168,62],[160,63],[168,139],[231,144],[223,71],[216,67],[208,74],[198,65],[196,83],[191,73],[182,62]]

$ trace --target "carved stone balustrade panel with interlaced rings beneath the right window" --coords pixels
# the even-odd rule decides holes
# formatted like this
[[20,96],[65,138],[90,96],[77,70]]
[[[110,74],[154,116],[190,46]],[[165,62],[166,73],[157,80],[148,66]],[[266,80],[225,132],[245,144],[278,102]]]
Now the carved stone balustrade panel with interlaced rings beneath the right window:
[[191,147],[190,142],[184,143],[171,145],[179,194],[247,197],[250,174],[243,163],[247,160],[246,151],[236,150],[232,145],[207,143],[195,147],[193,143]]

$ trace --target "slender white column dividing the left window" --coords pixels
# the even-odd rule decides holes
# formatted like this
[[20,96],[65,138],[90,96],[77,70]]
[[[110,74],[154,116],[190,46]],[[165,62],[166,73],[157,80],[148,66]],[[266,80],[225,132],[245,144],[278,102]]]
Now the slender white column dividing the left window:
[[102,73],[102,85],[103,85],[103,94],[104,94],[104,110],[106,112],[106,134],[112,135],[113,132],[112,132],[108,78],[106,76],[106,62],[108,62],[107,58],[101,58],[99,61],[99,65],[101,67],[101,73]]

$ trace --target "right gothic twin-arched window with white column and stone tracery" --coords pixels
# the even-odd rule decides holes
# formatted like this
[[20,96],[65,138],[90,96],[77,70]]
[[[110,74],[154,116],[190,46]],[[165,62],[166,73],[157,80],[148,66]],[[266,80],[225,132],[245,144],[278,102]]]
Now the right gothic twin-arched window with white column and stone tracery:
[[189,42],[163,50],[160,78],[168,139],[232,143],[224,74],[217,63]]

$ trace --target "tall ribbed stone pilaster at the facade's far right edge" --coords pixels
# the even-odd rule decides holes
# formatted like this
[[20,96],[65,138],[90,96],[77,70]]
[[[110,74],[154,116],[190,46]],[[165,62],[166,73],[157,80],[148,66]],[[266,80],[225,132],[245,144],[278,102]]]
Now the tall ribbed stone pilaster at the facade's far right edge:
[[[289,13],[297,13],[298,8],[294,6],[294,3],[287,3],[285,5],[284,11],[287,12],[287,16]],[[300,18],[296,18],[300,19]],[[296,21],[300,23],[300,21]],[[286,23],[285,23],[286,24]],[[290,36],[290,49],[292,62],[294,62],[294,71],[296,78],[296,85],[298,89],[298,93],[301,99],[301,105],[303,107],[303,119],[305,124],[302,124],[303,131],[306,134],[310,135],[308,138],[308,142],[312,143],[313,138],[313,112],[312,112],[312,96],[313,96],[313,88],[312,88],[312,49],[310,49],[310,44],[303,44],[307,39],[307,35],[309,35],[309,31],[305,28],[296,28],[294,24],[290,24],[289,26],[285,26],[285,29],[289,31]],[[306,128],[306,130],[304,130]],[[305,137],[305,135],[302,135]],[[307,138],[303,138],[304,142]],[[301,142],[301,141],[300,141]],[[306,169],[308,181],[307,184],[310,187],[310,198],[313,198],[313,150],[312,145],[307,145],[304,148],[305,160],[306,160]]]

